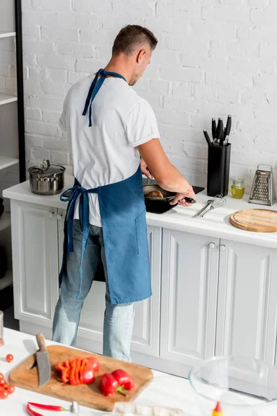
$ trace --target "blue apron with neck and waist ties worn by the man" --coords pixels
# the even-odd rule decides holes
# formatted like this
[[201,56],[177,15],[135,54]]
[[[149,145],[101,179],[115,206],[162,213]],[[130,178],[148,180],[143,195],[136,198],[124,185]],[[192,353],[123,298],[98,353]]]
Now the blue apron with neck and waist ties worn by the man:
[[[102,78],[98,76],[102,75]],[[118,73],[100,69],[91,83],[83,115],[89,108],[91,126],[92,101],[107,75],[123,78]],[[123,78],[125,79],[125,78]],[[66,194],[70,191],[70,196]],[[80,287],[82,291],[82,261],[89,236],[89,193],[97,193],[107,261],[107,283],[111,304],[123,304],[147,299],[152,295],[148,236],[143,196],[141,166],[131,177],[114,184],[84,189],[75,178],[73,188],[60,199],[69,202],[64,222],[64,255],[60,284],[66,278],[66,254],[73,252],[73,218],[75,202],[80,196],[79,216],[82,227],[82,254],[80,260]],[[77,278],[77,277],[76,277]]]

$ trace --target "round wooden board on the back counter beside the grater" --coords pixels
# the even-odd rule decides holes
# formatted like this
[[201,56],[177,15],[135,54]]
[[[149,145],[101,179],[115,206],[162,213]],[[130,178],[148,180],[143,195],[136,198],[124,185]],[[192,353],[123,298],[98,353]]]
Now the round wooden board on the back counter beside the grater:
[[245,231],[277,232],[277,212],[271,209],[243,209],[233,212],[229,220]]

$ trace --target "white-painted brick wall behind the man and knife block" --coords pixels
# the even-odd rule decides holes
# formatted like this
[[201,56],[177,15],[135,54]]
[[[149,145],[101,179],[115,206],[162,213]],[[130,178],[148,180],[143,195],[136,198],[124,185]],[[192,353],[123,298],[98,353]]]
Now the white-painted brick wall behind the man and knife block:
[[[188,180],[206,185],[202,130],[228,114],[231,175],[242,175],[249,190],[258,163],[277,171],[276,0],[22,3],[28,166],[43,157],[71,163],[57,127],[66,91],[107,63],[122,26],[141,24],[159,45],[135,89],[153,106],[166,153]],[[3,73],[10,76],[5,54]]]

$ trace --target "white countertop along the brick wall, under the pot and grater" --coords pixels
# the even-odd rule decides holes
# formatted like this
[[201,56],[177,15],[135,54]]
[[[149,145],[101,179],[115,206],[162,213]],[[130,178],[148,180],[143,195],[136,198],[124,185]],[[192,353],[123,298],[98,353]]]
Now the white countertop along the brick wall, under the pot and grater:
[[[73,186],[74,178],[71,175],[65,175],[64,190]],[[47,207],[66,208],[66,203],[60,201],[60,194],[55,196],[39,196],[30,191],[29,182],[22,182],[5,189],[3,191],[5,198],[31,202],[33,204],[45,205]],[[229,216],[234,211],[240,209],[260,208],[277,210],[277,205],[273,207],[265,207],[263,205],[249,204],[248,196],[244,196],[243,200],[234,200],[230,196],[226,196],[226,205],[215,209],[208,213],[204,218],[192,218],[193,215],[211,199],[206,195],[206,190],[197,193],[197,203],[189,208],[176,207],[165,214],[147,213],[148,225],[156,227],[164,227],[169,229],[177,229],[179,231],[202,234],[220,239],[229,239],[239,241],[241,243],[250,243],[254,245],[262,245],[269,248],[277,248],[277,233],[258,233],[247,232],[242,229],[233,227],[229,223]]]

